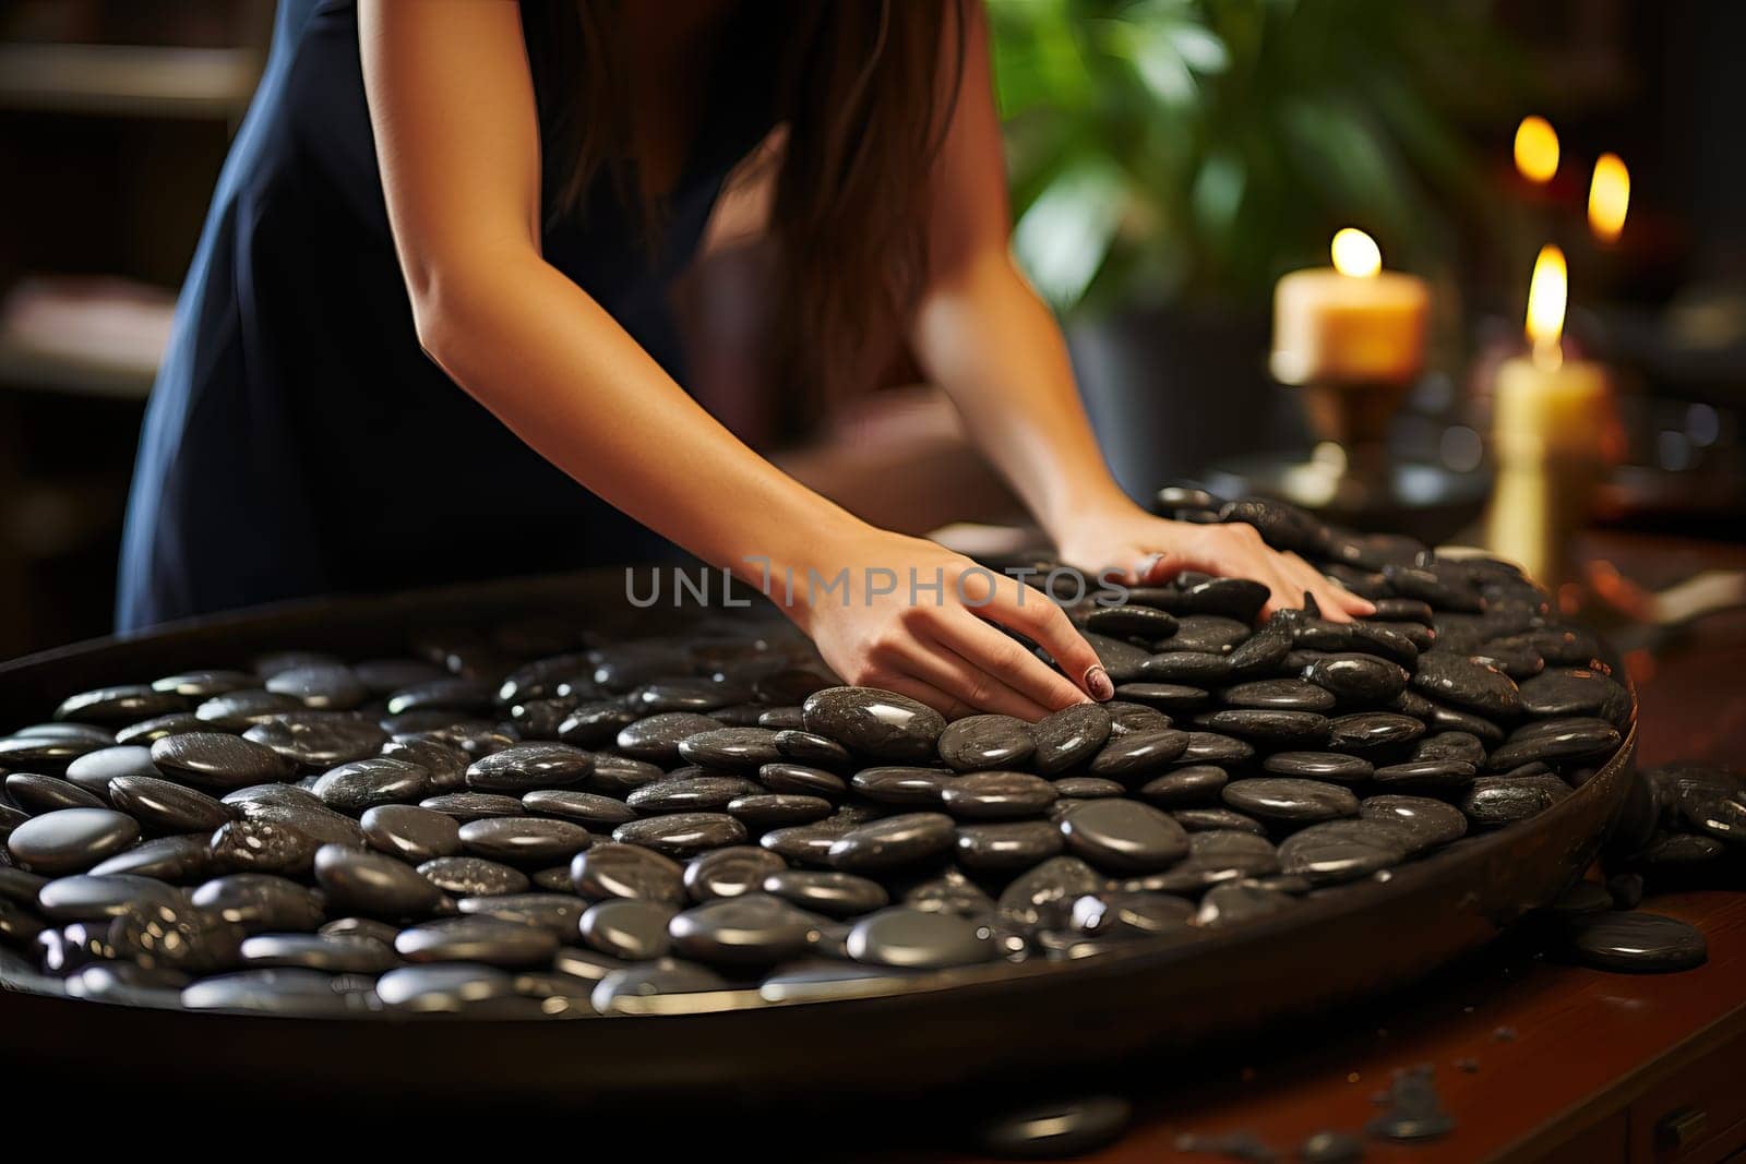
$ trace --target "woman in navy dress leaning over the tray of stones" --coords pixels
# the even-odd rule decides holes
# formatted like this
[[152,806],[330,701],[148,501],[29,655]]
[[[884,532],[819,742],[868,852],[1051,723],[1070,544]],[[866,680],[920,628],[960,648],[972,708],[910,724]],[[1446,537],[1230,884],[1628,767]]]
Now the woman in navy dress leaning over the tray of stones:
[[[857,520],[676,382],[667,286],[777,126],[786,366],[815,382],[896,325],[1063,560],[1367,611],[1110,480],[1007,255],[966,0],[285,0],[147,417],[120,625],[637,558],[651,529],[754,583],[849,571],[786,609],[850,682],[1028,719],[1110,698],[1035,592]],[[945,585],[866,581],[911,569]]]

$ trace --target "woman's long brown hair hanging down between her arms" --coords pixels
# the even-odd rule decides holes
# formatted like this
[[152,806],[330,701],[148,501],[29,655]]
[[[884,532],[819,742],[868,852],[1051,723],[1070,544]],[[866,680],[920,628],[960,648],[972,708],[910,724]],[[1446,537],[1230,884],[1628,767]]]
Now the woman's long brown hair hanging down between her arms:
[[[959,98],[969,2],[756,3],[775,40],[765,45],[770,124],[784,127],[770,216],[780,297],[772,354],[784,380],[815,389],[803,400],[883,354],[871,346],[899,333],[927,276],[929,178]],[[545,10],[527,42],[555,192],[548,213],[576,211],[604,175],[644,222],[658,222],[660,208],[636,195],[623,164],[622,0],[533,7]]]

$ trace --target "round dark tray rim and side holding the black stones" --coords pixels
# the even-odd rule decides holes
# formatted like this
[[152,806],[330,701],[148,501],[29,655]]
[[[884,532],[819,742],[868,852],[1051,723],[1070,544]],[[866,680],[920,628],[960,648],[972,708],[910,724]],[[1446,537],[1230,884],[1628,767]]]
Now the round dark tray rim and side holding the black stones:
[[[0,724],[44,719],[70,691],[279,649],[363,658],[433,625],[555,614],[585,627],[650,618],[623,574],[595,571],[381,599],[299,602],[101,639],[0,665]],[[751,616],[733,611],[735,616]],[[674,611],[663,611],[667,620]],[[1633,691],[1633,702],[1636,695]],[[691,1096],[908,1092],[1168,1054],[1215,1035],[1397,988],[1563,892],[1624,801],[1636,714],[1619,752],[1570,798],[1502,832],[1187,946],[1137,942],[1081,962],[993,965],[903,993],[763,1003],[754,993],[650,1000],[580,1021],[288,1019],[157,1010],[40,993],[0,972],[0,1054],[86,1084],[414,1089],[578,1105]],[[433,1070],[440,1065],[440,1070]]]

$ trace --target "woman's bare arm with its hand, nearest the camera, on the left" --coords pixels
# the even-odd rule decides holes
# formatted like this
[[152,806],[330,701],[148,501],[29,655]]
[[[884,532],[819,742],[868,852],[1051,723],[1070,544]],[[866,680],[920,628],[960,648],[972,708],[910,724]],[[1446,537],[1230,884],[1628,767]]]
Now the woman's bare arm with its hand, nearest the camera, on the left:
[[[787,613],[850,682],[948,712],[1037,717],[1084,700],[1096,656],[1013,579],[873,529],[803,489],[704,412],[540,253],[540,131],[512,0],[365,0],[360,51],[395,246],[419,342],[534,450],[707,562],[796,571]],[[578,534],[580,536],[580,534]],[[875,593],[890,571],[943,592]],[[819,595],[817,574],[849,572]],[[959,583],[967,581],[969,602]],[[780,588],[780,583],[779,583]],[[938,597],[936,597],[938,595]],[[782,597],[782,595],[779,595]],[[985,600],[986,599],[986,600]],[[1056,675],[988,623],[1044,644]]]

